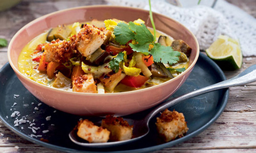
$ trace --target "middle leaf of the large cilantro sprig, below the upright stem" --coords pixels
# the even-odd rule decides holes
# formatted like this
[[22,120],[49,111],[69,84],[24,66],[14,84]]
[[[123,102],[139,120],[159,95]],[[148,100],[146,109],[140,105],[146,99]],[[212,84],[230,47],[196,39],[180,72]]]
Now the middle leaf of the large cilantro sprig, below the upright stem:
[[136,25],[135,30],[136,31],[134,31],[134,32],[136,34],[135,34],[134,38],[139,44],[145,44],[145,43],[148,43],[148,42],[150,43],[150,42],[154,41],[154,36],[152,35],[152,33],[150,33],[150,31],[148,30],[146,25],[144,25],[144,24],[141,24],[141,26]]

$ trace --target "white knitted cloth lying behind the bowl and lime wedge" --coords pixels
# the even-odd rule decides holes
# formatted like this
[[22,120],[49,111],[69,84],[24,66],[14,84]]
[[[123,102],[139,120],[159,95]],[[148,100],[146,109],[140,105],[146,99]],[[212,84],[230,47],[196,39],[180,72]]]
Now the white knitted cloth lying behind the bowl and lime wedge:
[[[110,4],[144,8],[147,0],[107,0]],[[195,34],[201,50],[205,50],[220,34],[239,39],[244,56],[256,55],[256,19],[229,4],[218,0],[214,9],[198,5],[180,8],[165,0],[152,0],[152,11],[176,19]]]

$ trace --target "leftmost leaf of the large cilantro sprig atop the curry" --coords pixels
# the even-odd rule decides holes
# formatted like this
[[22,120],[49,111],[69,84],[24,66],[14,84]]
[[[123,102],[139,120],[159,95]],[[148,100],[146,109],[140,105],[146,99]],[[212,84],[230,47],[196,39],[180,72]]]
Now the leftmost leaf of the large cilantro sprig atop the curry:
[[134,39],[134,33],[124,22],[120,22],[115,26],[114,35],[116,36],[115,40],[121,45],[126,44],[128,41]]

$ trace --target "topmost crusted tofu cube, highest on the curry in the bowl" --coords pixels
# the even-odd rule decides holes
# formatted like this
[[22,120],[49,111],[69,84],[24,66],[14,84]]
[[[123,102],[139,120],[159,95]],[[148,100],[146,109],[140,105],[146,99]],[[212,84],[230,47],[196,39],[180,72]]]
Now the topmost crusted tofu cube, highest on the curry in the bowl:
[[106,35],[102,29],[86,24],[77,34],[76,48],[83,56],[90,58],[90,55],[103,44],[104,40],[106,40]]

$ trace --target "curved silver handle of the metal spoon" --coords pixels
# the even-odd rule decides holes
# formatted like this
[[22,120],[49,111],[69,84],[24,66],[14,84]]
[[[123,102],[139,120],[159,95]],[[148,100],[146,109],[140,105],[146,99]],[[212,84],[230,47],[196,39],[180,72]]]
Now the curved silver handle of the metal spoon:
[[256,65],[252,65],[249,68],[245,69],[242,73],[239,75],[232,77],[228,80],[224,80],[222,82],[212,84],[210,86],[198,89],[196,91],[189,92],[187,94],[184,94],[182,96],[167,100],[165,103],[157,106],[154,110],[152,110],[146,117],[145,121],[149,122],[149,120],[155,116],[157,113],[163,111],[166,108],[169,108],[173,105],[178,104],[180,101],[187,100],[189,98],[193,98],[196,96],[199,96],[201,94],[223,89],[223,88],[228,88],[228,87],[233,87],[233,86],[238,86],[238,85],[244,85],[244,84],[249,84],[252,82],[256,81]]

